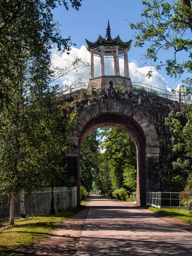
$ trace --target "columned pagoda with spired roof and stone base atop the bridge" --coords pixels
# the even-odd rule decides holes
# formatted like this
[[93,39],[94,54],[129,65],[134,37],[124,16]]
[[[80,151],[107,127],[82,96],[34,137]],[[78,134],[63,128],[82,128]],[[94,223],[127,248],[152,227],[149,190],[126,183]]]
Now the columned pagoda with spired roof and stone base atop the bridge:
[[[105,38],[102,38],[101,35],[99,35],[99,38],[94,43],[87,39],[85,40],[87,43],[87,50],[91,53],[91,70],[88,91],[107,90],[108,88],[116,89],[119,84],[121,84],[123,90],[131,90],[131,79],[129,77],[128,67],[128,50],[131,46],[131,40],[122,42],[119,35],[112,39],[109,20]],[[98,77],[94,76],[94,56],[99,56],[101,58],[101,71],[100,76]],[[124,76],[120,76],[119,73],[119,56],[124,56]],[[105,76],[104,58],[114,59],[113,76]]]

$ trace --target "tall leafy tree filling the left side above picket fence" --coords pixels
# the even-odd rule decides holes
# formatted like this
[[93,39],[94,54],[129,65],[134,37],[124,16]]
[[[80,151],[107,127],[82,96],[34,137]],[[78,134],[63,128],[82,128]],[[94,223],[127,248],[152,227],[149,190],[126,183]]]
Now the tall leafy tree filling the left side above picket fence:
[[[81,0],[3,0],[0,3],[0,189],[31,191],[64,170],[64,139],[72,125],[67,110],[55,99],[57,85],[50,50],[70,50],[60,36],[52,9]],[[73,119],[72,114],[71,118]]]

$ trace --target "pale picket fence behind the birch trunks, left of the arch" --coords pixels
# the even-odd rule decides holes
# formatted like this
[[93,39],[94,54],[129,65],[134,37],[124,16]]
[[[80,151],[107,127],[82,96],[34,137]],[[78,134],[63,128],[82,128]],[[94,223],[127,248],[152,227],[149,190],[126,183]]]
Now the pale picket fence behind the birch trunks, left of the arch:
[[[21,208],[23,211],[23,207],[27,217],[49,213],[51,194],[51,187],[47,187],[31,194],[23,192],[21,195],[15,195],[14,218],[20,217]],[[77,187],[70,189],[67,187],[54,187],[53,196],[56,212],[65,211],[77,206]],[[0,221],[9,219],[10,201],[10,194],[3,195],[0,193]]]

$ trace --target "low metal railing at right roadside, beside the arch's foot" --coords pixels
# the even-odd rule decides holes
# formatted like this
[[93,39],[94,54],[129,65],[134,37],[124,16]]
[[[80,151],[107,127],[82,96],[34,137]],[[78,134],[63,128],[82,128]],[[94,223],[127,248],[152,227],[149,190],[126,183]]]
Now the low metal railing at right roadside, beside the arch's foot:
[[179,198],[179,192],[147,192],[147,205],[157,208],[189,209],[192,198]]

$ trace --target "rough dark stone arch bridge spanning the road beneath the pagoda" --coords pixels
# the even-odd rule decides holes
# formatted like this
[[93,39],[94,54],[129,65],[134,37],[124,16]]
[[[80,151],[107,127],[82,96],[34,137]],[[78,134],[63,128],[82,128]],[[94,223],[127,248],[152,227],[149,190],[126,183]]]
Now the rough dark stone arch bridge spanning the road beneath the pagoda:
[[[74,101],[73,96],[63,99]],[[79,124],[67,138],[70,153],[65,156],[67,169],[76,176],[78,204],[80,204],[80,149],[84,139],[101,127],[114,126],[127,132],[137,147],[137,204],[146,204],[146,192],[160,190],[160,164],[171,157],[171,134],[164,125],[165,117],[184,108],[178,102],[160,96],[127,92],[118,94],[113,89],[96,94],[84,94],[76,100]]]

